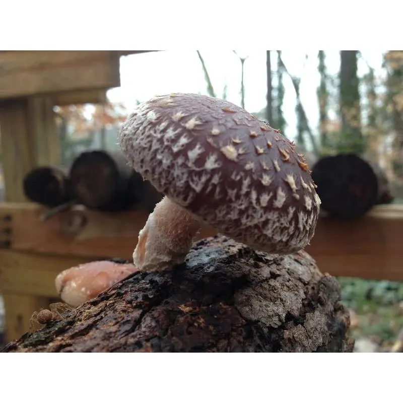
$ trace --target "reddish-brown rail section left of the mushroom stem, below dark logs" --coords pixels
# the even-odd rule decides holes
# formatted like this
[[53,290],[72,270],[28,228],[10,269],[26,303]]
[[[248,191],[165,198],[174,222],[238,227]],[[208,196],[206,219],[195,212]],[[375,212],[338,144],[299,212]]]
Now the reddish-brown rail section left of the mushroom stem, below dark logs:
[[[139,231],[148,217],[141,211],[99,213],[78,207],[41,222],[38,219],[44,211],[30,203],[0,204],[0,220],[12,217],[10,240],[14,250],[131,259]],[[81,221],[83,226],[77,224]],[[216,232],[203,228],[197,239]]]

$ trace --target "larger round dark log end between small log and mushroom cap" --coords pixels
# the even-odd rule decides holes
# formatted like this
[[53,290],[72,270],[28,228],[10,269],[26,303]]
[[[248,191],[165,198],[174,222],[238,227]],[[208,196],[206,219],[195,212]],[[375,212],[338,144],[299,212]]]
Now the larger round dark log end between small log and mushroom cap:
[[85,151],[70,169],[72,196],[91,210],[127,210],[134,203],[129,186],[132,172],[120,152]]

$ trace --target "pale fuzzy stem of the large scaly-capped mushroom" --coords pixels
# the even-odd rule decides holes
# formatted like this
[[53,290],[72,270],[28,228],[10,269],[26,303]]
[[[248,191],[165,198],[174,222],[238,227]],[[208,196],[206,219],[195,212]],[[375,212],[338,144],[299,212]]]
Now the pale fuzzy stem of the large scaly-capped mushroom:
[[139,233],[133,263],[144,272],[160,271],[182,263],[200,227],[194,216],[164,197]]

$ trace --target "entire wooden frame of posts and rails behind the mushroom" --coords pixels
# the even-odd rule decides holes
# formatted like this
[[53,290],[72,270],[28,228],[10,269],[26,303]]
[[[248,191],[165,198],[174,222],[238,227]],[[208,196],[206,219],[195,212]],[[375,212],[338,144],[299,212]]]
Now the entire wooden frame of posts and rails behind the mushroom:
[[[119,57],[138,51],[0,52],[0,131],[6,203],[0,204],[0,290],[7,340],[27,331],[34,310],[57,298],[56,275],[105,257],[131,258],[147,214],[97,213],[80,207],[46,221],[28,203],[24,175],[58,165],[53,106],[102,103],[120,85]],[[78,223],[78,224],[77,224]],[[204,228],[198,239],[214,235]],[[322,272],[403,280],[403,206],[378,206],[358,222],[322,218],[306,249]]]

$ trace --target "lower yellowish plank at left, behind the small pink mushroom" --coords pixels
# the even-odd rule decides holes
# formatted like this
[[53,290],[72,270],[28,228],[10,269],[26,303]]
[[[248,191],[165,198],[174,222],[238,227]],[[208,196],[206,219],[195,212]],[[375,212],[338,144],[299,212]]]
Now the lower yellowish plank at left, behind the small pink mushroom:
[[0,249],[0,290],[55,298],[58,297],[54,286],[56,276],[66,268],[94,259]]

